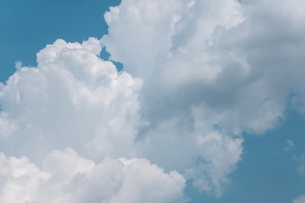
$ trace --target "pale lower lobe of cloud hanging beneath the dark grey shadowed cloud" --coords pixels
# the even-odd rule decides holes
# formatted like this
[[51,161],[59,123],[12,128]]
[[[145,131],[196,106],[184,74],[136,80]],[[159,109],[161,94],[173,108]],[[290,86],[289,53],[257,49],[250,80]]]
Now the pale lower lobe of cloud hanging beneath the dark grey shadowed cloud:
[[192,113],[194,124],[188,119],[165,120],[143,133],[139,142],[147,146],[144,156],[167,170],[183,171],[200,191],[220,197],[241,160],[243,138],[238,131],[213,129],[198,109]]

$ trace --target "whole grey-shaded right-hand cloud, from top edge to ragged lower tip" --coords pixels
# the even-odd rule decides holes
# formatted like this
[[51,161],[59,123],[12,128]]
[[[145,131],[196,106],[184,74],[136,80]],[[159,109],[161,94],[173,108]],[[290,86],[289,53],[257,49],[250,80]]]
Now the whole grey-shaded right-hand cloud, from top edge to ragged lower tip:
[[[152,7],[149,10],[152,13],[160,13],[166,5],[172,9],[163,15],[163,22],[160,23],[158,15],[147,17],[148,8]],[[156,12],[155,8],[159,10]],[[109,34],[101,42],[110,58],[122,62],[131,74],[144,77],[140,115],[147,123],[138,127],[137,139],[159,146],[159,153],[167,154],[170,160],[171,154],[192,159],[197,154],[205,164],[195,168],[191,165],[196,161],[172,164],[181,168],[191,166],[186,174],[197,173],[193,175],[194,185],[219,196],[220,188],[229,182],[228,174],[240,160],[241,134],[264,134],[277,127],[285,119],[291,95],[293,106],[302,112],[304,9],[304,2],[299,0],[122,0],[121,5],[105,14]],[[146,12],[137,12],[140,10]],[[178,20],[170,20],[172,16]],[[162,38],[154,38],[160,36],[160,29],[151,29],[144,35],[151,38],[143,37],[147,27],[157,24],[162,28],[164,23],[168,30]],[[115,42],[121,41],[124,41],[120,44],[122,50],[128,50],[128,54],[118,51],[121,47]],[[147,63],[143,65],[142,61]],[[143,70],[148,70],[146,75],[139,74]],[[162,139],[165,134],[168,141]],[[200,140],[206,141],[216,134],[222,138],[218,139],[219,148],[209,145],[189,149],[185,152],[189,156],[168,148],[174,144],[181,148],[188,144],[200,146]],[[207,151],[221,154],[228,143],[235,143],[232,154],[210,161]],[[154,156],[147,155],[156,160]],[[213,165],[218,158],[230,161]],[[162,158],[158,161],[165,162]]]

